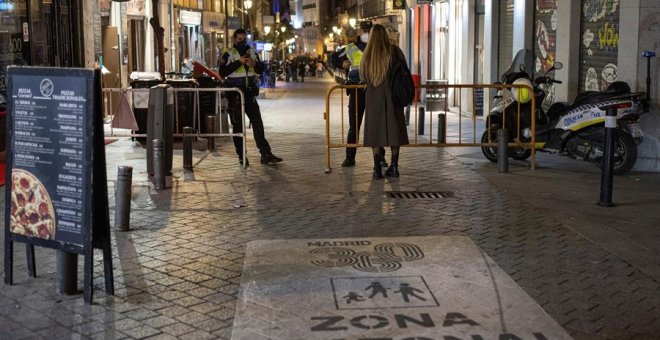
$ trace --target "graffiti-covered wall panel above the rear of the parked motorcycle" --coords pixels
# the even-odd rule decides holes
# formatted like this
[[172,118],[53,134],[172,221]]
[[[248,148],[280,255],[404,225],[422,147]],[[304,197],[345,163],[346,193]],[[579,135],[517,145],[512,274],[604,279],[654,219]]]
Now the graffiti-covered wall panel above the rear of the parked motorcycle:
[[619,0],[582,1],[580,91],[602,91],[617,80]]

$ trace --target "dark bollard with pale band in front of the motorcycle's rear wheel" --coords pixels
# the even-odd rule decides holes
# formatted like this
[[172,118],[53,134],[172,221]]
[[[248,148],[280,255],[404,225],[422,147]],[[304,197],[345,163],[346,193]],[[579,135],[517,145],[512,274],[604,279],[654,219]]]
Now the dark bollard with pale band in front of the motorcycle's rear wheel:
[[609,106],[605,116],[605,154],[600,176],[600,200],[598,205],[611,207],[614,182],[614,143],[616,139],[616,107]]

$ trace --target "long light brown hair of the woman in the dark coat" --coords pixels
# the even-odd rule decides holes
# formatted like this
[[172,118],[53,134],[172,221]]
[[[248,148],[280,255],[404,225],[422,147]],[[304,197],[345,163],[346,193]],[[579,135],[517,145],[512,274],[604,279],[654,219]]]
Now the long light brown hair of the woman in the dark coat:
[[369,33],[367,48],[360,61],[360,79],[378,87],[385,82],[392,61],[392,44],[385,27],[376,24]]

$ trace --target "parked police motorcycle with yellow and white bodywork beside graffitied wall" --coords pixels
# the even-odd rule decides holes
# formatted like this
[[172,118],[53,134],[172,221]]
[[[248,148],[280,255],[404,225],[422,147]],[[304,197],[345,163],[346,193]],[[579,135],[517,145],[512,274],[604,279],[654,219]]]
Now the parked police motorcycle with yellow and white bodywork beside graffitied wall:
[[[532,52],[521,50],[516,54],[511,67],[502,75],[504,84],[524,84],[532,88],[533,93],[521,88],[504,88],[498,91],[486,120],[482,143],[496,142],[497,130],[503,123],[509,131],[509,142],[530,142],[530,96],[534,95],[536,150],[584,160],[600,167],[605,150],[604,107],[613,105],[617,110],[614,174],[622,175],[630,171],[637,160],[637,144],[641,143],[643,138],[637,123],[642,106],[639,95],[631,93],[630,86],[625,82],[617,81],[610,84],[605,91],[581,93],[572,104],[552,103],[547,94],[552,90],[552,84],[561,81],[548,74],[561,69],[563,65],[555,62],[545,74],[534,79],[532,83],[526,70],[533,70],[533,63]],[[497,162],[496,147],[482,147],[481,150],[488,160]],[[531,155],[531,150],[523,147],[510,147],[508,152],[511,158],[517,160],[525,160]]]

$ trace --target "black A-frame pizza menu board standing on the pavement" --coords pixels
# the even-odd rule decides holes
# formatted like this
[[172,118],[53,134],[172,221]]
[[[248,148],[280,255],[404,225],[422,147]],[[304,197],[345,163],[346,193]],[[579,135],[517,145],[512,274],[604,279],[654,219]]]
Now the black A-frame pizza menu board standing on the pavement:
[[93,249],[103,250],[105,289],[113,293],[105,147],[98,70],[7,70],[5,283],[13,242],[85,256],[84,299],[92,303]]

